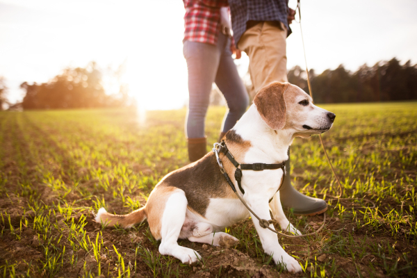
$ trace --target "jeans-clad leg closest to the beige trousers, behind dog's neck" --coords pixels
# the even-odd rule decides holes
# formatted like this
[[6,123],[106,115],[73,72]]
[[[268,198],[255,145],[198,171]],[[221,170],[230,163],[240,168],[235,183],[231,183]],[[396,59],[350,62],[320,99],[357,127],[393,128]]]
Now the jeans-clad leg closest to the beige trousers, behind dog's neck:
[[[221,134],[226,133],[236,124],[246,112],[249,104],[249,96],[247,95],[245,85],[243,85],[233,58],[231,58],[230,40],[228,39],[226,42],[222,56],[220,56],[218,72],[215,76],[215,83],[224,95],[229,107],[224,115]],[[222,136],[220,135],[221,139]]]

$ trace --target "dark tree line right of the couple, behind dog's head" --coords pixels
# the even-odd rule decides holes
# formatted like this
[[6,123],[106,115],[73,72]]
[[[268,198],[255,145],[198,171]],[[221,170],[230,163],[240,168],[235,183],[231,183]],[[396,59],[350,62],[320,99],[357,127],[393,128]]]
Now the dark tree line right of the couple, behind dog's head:
[[[399,101],[417,99],[417,65],[404,65],[393,58],[373,67],[362,65],[356,72],[339,65],[336,70],[316,74],[309,71],[311,90],[317,103]],[[306,72],[299,66],[288,71],[288,82],[307,93]]]

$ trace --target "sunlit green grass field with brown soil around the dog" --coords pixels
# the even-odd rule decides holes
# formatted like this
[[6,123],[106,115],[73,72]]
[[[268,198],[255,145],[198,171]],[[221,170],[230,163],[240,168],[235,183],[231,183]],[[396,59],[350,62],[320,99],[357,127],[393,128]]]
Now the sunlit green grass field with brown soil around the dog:
[[[303,266],[295,276],[416,277],[417,102],[322,107],[337,115],[323,139],[343,197],[366,197],[377,208],[329,202],[322,234],[279,238]],[[188,163],[185,114],[151,111],[139,121],[126,109],[1,112],[0,275],[290,277],[263,253],[251,220],[227,228],[240,239],[231,250],[179,240],[203,256],[197,266],[161,256],[146,222],[127,231],[92,222],[101,206],[143,206],[165,174]],[[210,145],[223,114],[208,113]],[[291,158],[299,190],[338,194],[318,137],[297,138]],[[322,221],[287,215],[301,231]]]

